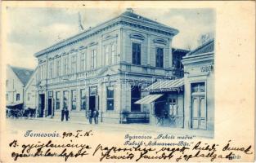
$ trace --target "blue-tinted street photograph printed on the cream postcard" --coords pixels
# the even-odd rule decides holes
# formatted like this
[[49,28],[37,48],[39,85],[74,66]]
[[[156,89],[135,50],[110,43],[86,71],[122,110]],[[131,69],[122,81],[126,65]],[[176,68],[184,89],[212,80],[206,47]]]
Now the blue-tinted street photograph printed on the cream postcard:
[[7,121],[213,137],[215,11],[151,11],[7,8]]

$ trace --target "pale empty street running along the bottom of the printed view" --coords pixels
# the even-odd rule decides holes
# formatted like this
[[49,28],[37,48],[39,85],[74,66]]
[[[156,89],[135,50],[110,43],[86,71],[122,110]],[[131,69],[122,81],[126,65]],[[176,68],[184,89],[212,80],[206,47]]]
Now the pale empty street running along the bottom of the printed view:
[[58,121],[49,118],[7,118],[6,127],[8,132],[25,130],[93,130],[119,134],[174,134],[210,138],[210,133],[207,130],[186,130],[182,128],[151,126],[150,124],[99,123],[97,125],[90,125],[88,124],[88,121]]

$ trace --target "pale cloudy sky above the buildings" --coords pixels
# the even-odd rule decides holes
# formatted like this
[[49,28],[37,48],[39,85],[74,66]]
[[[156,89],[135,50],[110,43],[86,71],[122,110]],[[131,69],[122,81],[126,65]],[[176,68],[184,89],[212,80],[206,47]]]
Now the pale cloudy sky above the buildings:
[[[124,9],[125,11],[126,9]],[[97,8],[7,8],[7,64],[35,68],[34,53],[79,33],[79,12],[83,27],[88,29],[115,18],[124,11]],[[215,11],[204,9],[133,8],[134,13],[166,24],[179,33],[173,37],[173,47],[195,49],[204,33],[215,33]]]

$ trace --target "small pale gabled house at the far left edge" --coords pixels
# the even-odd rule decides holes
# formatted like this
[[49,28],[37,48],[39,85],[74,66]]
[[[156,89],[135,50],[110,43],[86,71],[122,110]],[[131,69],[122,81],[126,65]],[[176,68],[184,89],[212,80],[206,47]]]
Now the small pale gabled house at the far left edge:
[[11,65],[7,65],[7,80],[6,80],[6,102],[7,106],[24,104],[24,92],[25,86],[29,81],[33,69],[18,68]]

